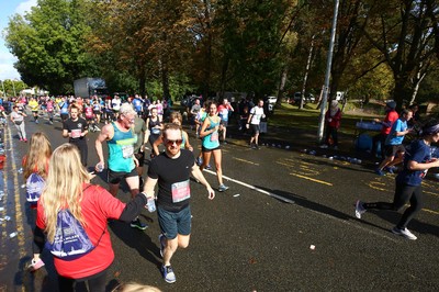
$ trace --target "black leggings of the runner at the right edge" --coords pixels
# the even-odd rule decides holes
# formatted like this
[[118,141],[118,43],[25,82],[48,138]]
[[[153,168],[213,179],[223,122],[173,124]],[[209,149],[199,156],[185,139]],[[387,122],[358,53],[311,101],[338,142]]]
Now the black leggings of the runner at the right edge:
[[406,203],[410,202],[410,206],[406,209],[399,223],[396,227],[404,229],[407,224],[413,220],[413,217],[418,213],[424,205],[423,201],[423,188],[421,186],[407,186],[396,183],[395,195],[393,198],[393,203],[386,202],[375,202],[375,203],[364,203],[365,210],[378,209],[378,210],[392,210],[398,211]]

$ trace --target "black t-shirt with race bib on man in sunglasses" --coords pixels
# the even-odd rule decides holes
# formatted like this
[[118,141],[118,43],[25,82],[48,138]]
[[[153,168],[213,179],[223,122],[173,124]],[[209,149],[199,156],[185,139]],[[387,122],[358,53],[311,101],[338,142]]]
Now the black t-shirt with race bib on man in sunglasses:
[[157,205],[169,212],[179,212],[189,205],[192,167],[195,157],[181,149],[178,158],[169,158],[166,153],[153,158],[148,177],[158,179]]

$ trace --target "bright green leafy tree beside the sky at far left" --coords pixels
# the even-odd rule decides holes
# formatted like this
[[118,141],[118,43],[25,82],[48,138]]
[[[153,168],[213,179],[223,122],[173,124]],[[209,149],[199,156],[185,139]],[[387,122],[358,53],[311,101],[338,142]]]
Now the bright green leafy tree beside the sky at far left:
[[10,19],[5,41],[18,57],[23,81],[53,93],[71,91],[92,59],[85,50],[88,25],[81,0],[40,0],[31,12]]

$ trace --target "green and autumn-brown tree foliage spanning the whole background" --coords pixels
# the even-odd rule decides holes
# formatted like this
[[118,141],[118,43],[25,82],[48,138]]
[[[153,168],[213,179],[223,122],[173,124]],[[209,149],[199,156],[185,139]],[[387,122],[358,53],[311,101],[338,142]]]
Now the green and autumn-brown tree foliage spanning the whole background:
[[[40,0],[10,19],[5,41],[22,80],[55,94],[82,77],[160,99],[274,94],[286,72],[286,91],[301,91],[306,75],[318,96],[333,12],[322,0]],[[434,0],[340,0],[331,91],[407,99],[420,72],[419,101],[436,99],[438,13]]]

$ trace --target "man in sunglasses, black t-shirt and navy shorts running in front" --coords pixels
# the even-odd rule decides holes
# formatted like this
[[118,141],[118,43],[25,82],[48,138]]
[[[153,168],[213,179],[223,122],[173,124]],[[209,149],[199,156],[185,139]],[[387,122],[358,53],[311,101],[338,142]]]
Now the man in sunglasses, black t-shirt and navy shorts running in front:
[[215,192],[195,165],[193,154],[180,149],[181,127],[167,124],[162,139],[166,151],[153,158],[149,164],[144,193],[149,198],[154,196],[154,188],[158,182],[157,216],[161,229],[160,252],[164,257],[161,271],[165,281],[173,283],[176,274],[171,268],[171,257],[177,247],[188,247],[191,234],[190,176],[206,187],[209,199],[213,200]]

